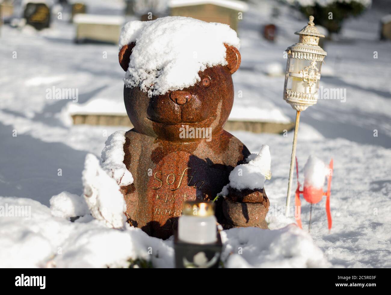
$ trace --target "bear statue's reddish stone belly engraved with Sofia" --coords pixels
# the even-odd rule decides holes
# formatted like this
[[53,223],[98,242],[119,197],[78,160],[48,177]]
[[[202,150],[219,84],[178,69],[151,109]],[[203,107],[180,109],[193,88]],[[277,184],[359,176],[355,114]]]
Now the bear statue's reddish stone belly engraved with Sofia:
[[[142,166],[147,169],[148,165]],[[142,185],[145,182],[136,184],[138,208],[133,215],[138,227],[162,239],[177,229],[184,202],[213,200],[228,183],[231,170],[185,151],[169,153],[157,162],[155,159],[149,167],[154,168],[149,170],[146,186]]]

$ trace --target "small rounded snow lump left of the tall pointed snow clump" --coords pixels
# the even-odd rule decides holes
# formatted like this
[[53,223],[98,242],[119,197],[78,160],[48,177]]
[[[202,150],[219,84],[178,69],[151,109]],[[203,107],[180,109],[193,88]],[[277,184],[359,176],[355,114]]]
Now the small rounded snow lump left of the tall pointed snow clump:
[[70,192],[61,192],[50,198],[50,211],[53,216],[69,219],[89,213],[86,201]]

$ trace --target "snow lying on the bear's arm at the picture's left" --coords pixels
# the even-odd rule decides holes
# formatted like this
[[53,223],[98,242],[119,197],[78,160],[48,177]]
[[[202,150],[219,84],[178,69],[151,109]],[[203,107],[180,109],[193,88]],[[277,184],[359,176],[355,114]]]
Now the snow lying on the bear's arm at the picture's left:
[[102,169],[117,180],[119,185],[133,183],[133,176],[124,164],[125,131],[119,130],[111,134],[102,150]]

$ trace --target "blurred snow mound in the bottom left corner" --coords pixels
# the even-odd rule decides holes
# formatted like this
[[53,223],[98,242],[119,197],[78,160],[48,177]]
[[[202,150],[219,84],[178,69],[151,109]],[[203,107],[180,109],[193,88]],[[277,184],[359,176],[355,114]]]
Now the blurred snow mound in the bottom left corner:
[[0,218],[0,267],[36,268],[57,252],[56,245],[64,241],[70,232],[63,223],[70,223],[52,216],[50,209],[29,198],[0,197],[0,204],[29,206],[31,218],[22,216]]

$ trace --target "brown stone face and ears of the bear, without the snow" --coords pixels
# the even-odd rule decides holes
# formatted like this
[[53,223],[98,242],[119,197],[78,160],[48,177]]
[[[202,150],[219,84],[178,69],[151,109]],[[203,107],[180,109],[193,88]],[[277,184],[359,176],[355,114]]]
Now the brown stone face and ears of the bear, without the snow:
[[[127,71],[135,42],[122,46],[118,54],[121,67]],[[221,132],[233,104],[231,75],[240,66],[236,47],[226,47],[226,65],[207,67],[198,72],[200,81],[187,88],[148,95],[140,87],[124,86],[127,115],[138,133],[170,141],[199,140],[180,136],[183,128],[211,128]],[[182,129],[181,129],[182,128]],[[198,129],[195,129],[198,130]]]

